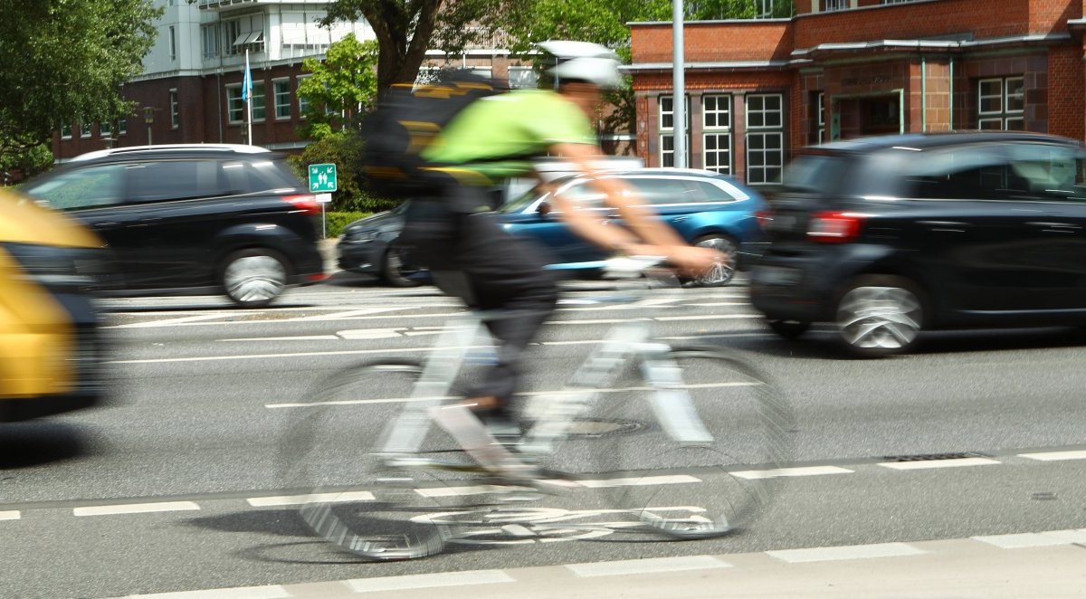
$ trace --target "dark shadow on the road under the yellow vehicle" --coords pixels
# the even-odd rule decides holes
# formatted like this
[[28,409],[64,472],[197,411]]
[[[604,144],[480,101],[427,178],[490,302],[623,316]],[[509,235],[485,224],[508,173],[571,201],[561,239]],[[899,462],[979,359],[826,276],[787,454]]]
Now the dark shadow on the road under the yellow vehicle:
[[0,470],[83,457],[89,446],[87,433],[72,424],[48,420],[0,424]]

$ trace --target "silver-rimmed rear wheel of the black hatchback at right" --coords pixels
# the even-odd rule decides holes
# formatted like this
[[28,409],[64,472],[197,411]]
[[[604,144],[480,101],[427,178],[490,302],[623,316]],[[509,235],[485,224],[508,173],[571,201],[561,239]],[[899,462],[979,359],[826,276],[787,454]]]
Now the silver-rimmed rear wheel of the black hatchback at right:
[[923,328],[917,286],[900,277],[860,277],[837,303],[837,332],[851,353],[881,357],[908,351]]

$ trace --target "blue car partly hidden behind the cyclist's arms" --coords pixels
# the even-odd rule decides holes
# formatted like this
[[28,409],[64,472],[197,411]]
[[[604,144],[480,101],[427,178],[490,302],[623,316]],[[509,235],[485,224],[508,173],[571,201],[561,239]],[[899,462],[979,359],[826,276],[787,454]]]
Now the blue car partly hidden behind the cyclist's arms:
[[[689,243],[715,247],[732,259],[728,265],[689,281],[692,285],[719,286],[732,280],[735,267],[744,268],[745,256],[760,255],[767,243],[757,213],[768,208],[755,190],[709,170],[651,168],[608,173],[636,190]],[[621,225],[615,209],[585,177],[565,177],[548,183],[556,193],[577,200],[602,220]],[[592,262],[604,252],[577,237],[553,209],[551,192],[535,188],[485,215],[496,218],[509,233],[530,237],[548,247],[560,263]]]

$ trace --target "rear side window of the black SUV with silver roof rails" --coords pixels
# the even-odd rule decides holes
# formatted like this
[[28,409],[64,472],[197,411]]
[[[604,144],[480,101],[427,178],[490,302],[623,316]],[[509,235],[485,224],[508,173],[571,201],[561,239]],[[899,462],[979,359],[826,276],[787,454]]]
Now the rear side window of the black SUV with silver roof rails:
[[224,195],[216,161],[155,161],[125,165],[130,202],[156,202]]

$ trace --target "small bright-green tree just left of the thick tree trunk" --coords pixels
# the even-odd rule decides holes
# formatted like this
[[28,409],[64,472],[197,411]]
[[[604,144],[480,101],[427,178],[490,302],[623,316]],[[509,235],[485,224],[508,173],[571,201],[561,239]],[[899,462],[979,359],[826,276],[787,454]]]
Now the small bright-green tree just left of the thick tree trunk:
[[377,43],[354,35],[328,47],[324,61],[305,59],[302,71],[312,73],[298,85],[308,106],[303,137],[324,139],[336,130],[356,129],[377,100]]

